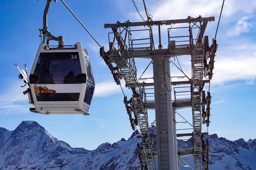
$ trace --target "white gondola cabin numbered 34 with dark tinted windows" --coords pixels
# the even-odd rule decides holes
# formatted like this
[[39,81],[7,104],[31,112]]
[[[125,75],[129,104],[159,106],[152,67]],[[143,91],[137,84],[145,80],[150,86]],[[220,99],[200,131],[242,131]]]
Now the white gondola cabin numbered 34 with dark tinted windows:
[[75,48],[49,48],[41,43],[29,85],[29,102],[35,105],[30,111],[89,115],[95,83],[87,50],[81,42]]

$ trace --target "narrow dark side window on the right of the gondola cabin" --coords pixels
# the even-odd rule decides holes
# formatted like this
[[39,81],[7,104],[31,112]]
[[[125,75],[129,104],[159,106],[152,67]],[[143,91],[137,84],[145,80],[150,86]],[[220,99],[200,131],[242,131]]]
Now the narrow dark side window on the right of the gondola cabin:
[[90,65],[90,59],[84,54],[84,52],[83,52],[83,55],[84,55],[84,62],[85,62],[86,71],[87,71],[87,86],[86,86],[86,91],[84,95],[84,102],[90,105],[93,98],[95,82],[93,77],[93,70]]

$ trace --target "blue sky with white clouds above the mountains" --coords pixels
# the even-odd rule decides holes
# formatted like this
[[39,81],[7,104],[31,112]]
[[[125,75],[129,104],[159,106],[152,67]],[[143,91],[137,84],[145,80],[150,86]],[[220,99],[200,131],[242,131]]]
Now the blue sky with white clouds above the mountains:
[[[187,16],[215,16],[208,23],[205,35],[211,40],[215,35],[222,0],[146,0],[153,20],[183,19]],[[84,26],[105,48],[108,48],[108,32],[105,23],[141,21],[131,0],[65,0]],[[142,1],[135,0],[145,17]],[[23,120],[34,120],[52,136],[69,143],[72,147],[95,149],[104,142],[128,139],[133,132],[123,104],[120,87],[113,81],[111,72],[99,57],[99,47],[59,0],[52,2],[48,13],[49,31],[54,36],[64,36],[64,43],[82,42],[87,48],[96,81],[96,91],[90,108],[90,116],[41,115],[29,112],[27,96],[20,88],[14,63],[30,71],[41,42],[38,28],[43,27],[46,0],[9,0],[0,6],[0,127],[14,130]],[[251,0],[226,1],[217,35],[218,51],[215,57],[214,77],[211,83],[212,105],[209,133],[217,133],[229,140],[256,138],[256,2]],[[167,42],[167,27],[163,27],[163,46]],[[154,33],[157,28],[154,28]],[[179,32],[177,32],[178,34]],[[176,34],[174,32],[174,34]],[[135,34],[136,36],[136,34]],[[137,35],[143,36],[143,35]],[[158,41],[155,41],[158,45]],[[56,42],[51,42],[56,44]],[[107,51],[108,49],[106,49]],[[189,71],[189,57],[179,57]],[[141,74],[150,61],[138,59]],[[138,76],[140,76],[140,74]],[[171,65],[172,76],[180,75]],[[152,67],[145,77],[152,76]],[[122,82],[124,88],[124,82]],[[131,91],[125,89],[131,97]],[[191,115],[191,108],[178,111]],[[179,118],[178,118],[179,119]],[[154,111],[149,111],[154,121]],[[180,126],[180,125],[177,125]],[[186,127],[186,126],[185,126]]]

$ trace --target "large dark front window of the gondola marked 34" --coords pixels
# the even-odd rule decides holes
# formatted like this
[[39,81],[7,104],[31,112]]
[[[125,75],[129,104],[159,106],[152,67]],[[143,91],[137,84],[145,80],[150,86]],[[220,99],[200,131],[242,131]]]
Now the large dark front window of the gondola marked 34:
[[35,84],[81,84],[76,80],[81,74],[78,52],[41,53],[34,74]]

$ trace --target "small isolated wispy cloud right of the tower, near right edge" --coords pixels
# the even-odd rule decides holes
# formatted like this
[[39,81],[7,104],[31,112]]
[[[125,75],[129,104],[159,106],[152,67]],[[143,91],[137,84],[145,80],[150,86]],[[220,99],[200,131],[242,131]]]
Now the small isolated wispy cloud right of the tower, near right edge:
[[249,31],[250,23],[247,22],[249,18],[247,16],[242,17],[237,23],[236,26],[227,31],[227,36],[229,37],[237,37],[242,33],[246,33]]

